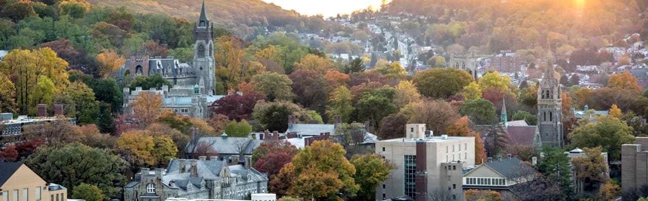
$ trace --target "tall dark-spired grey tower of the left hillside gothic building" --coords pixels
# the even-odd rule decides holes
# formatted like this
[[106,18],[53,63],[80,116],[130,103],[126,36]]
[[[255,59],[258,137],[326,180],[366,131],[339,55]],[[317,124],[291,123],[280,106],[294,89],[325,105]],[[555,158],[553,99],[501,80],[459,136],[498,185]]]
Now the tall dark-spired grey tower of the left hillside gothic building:
[[[205,82],[205,89],[202,94],[214,95],[216,91],[216,67],[214,64],[214,30],[213,25],[207,19],[205,12],[205,0],[198,25],[194,31],[194,69],[196,76]],[[200,79],[198,79],[200,80]]]

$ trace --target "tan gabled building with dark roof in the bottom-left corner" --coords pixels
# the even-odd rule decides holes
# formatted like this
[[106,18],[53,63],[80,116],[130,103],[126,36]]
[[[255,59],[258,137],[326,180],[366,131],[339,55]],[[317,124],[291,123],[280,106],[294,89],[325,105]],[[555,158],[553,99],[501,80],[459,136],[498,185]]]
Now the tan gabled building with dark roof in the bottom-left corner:
[[65,201],[67,189],[45,182],[20,162],[0,162],[0,201]]

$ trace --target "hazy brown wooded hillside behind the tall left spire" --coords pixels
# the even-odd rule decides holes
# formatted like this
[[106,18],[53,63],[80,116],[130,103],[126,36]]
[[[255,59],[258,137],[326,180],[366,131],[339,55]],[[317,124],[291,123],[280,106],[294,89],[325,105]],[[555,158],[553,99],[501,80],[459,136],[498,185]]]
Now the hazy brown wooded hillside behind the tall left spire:
[[[88,0],[99,6],[126,6],[137,12],[154,12],[168,16],[183,17],[195,21],[200,16],[202,0]],[[207,0],[207,14],[215,25],[229,28],[240,36],[260,34],[260,27],[269,30],[284,28],[299,30],[317,21],[318,17],[301,16],[294,10],[283,10],[281,7],[259,0]]]

